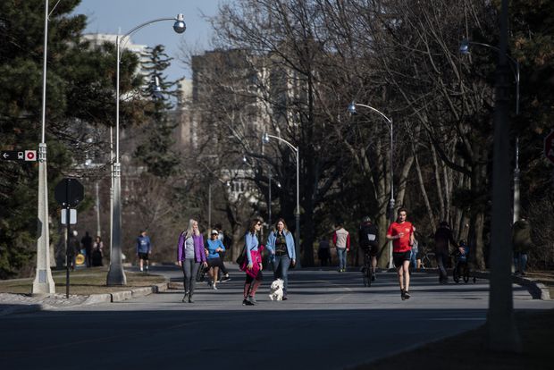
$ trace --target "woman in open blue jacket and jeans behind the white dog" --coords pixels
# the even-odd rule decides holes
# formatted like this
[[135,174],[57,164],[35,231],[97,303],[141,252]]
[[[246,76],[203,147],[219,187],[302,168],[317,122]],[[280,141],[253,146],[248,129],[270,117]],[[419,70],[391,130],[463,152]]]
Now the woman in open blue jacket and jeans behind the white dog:
[[284,294],[282,299],[287,298],[289,288],[289,267],[296,265],[297,255],[294,248],[292,232],[287,229],[287,223],[280,218],[275,224],[275,229],[269,233],[267,238],[267,249],[269,260],[273,265],[273,279],[282,279],[284,282]]

